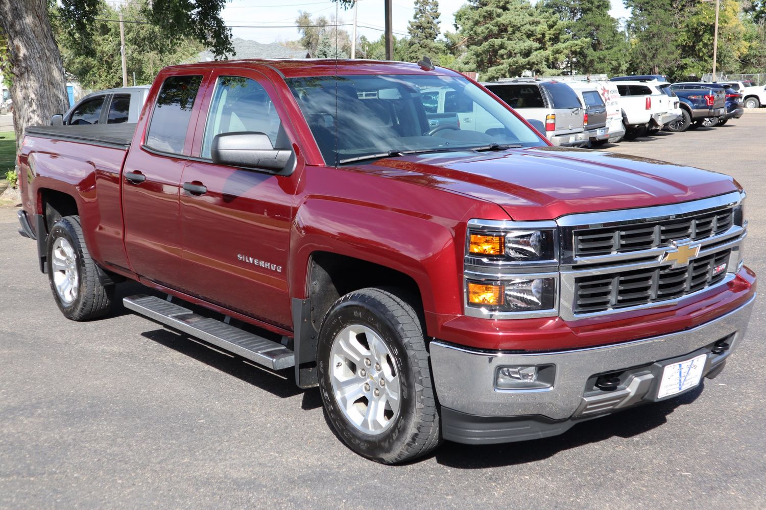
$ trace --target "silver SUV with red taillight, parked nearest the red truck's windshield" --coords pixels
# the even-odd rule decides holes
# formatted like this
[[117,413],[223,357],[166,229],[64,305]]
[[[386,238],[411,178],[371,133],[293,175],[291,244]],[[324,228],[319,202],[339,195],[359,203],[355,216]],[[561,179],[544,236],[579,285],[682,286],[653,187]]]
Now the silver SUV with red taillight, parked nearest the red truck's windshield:
[[588,145],[583,128],[584,107],[566,83],[514,78],[483,83],[483,86],[525,119],[541,122],[545,136],[553,145]]

